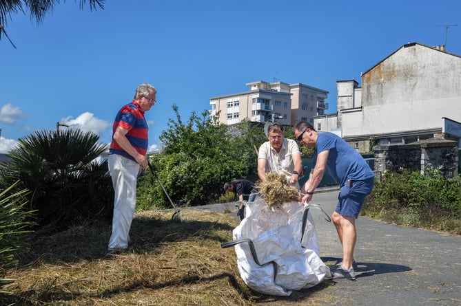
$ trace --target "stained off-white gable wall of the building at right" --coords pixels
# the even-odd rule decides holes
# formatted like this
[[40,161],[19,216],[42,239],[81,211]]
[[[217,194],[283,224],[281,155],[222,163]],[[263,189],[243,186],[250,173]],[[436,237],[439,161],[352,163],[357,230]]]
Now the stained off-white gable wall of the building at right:
[[460,76],[460,56],[401,47],[362,75],[362,116],[342,113],[343,137],[437,129],[442,117],[461,122]]

